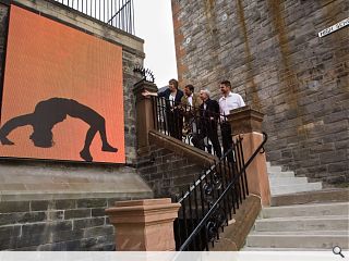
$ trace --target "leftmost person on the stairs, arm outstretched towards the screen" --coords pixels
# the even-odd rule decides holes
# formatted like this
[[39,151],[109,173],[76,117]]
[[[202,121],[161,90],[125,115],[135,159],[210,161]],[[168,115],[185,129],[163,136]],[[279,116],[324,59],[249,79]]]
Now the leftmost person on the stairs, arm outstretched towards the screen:
[[166,119],[170,136],[179,140],[182,139],[183,117],[179,104],[183,97],[183,91],[178,88],[177,79],[170,79],[168,88],[163,92],[151,92],[145,90],[143,96],[157,96],[166,99]]

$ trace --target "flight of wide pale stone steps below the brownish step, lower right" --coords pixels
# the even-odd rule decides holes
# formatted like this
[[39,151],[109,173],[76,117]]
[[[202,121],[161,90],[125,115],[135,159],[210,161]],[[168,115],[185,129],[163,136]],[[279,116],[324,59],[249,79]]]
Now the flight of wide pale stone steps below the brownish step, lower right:
[[349,249],[349,202],[264,208],[244,250]]

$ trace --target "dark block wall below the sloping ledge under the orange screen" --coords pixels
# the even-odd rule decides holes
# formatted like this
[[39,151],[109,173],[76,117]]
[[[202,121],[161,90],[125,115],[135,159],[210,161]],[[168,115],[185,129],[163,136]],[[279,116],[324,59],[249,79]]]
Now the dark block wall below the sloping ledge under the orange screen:
[[116,200],[0,202],[0,250],[113,250],[115,228],[105,209]]

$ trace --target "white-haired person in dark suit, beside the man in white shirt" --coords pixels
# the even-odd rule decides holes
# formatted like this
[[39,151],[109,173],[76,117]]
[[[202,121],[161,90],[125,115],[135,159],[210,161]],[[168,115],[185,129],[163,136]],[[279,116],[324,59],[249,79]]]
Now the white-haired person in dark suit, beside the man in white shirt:
[[214,147],[215,154],[220,158],[221,149],[218,139],[218,119],[219,119],[219,104],[217,101],[209,99],[208,90],[201,90],[200,98],[203,103],[200,105],[200,135],[198,140],[193,140],[195,147],[204,147],[204,138],[208,138]]

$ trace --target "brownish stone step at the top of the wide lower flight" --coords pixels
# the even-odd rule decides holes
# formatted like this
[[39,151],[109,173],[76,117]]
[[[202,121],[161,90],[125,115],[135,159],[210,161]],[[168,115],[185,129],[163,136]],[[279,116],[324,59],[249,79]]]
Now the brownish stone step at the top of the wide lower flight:
[[290,206],[325,202],[348,202],[349,189],[335,188],[316,191],[305,191],[272,197],[272,206]]

